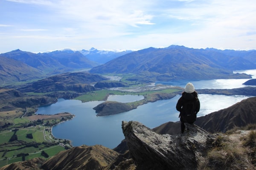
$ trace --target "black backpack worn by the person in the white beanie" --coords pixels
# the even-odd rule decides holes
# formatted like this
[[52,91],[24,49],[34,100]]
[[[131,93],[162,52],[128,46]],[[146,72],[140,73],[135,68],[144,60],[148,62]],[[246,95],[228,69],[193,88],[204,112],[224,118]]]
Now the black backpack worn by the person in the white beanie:
[[180,116],[181,119],[183,120],[183,122],[187,122],[187,123],[194,123],[195,119],[196,119],[196,99],[195,100],[189,100],[186,101],[182,108],[181,108],[181,112],[180,112]]

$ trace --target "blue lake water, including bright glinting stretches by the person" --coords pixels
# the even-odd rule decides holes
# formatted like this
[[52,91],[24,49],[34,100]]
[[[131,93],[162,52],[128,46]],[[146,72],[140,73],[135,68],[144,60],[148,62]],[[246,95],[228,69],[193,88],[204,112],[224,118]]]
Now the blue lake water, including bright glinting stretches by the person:
[[[255,73],[255,74],[254,74]],[[248,74],[248,72],[247,72]],[[256,70],[250,72],[256,75]],[[253,76],[254,78],[254,76]],[[195,88],[239,88],[248,79],[217,79],[192,82]],[[184,87],[186,81],[169,82],[172,85]],[[69,139],[73,146],[82,144],[95,145],[102,144],[109,148],[116,147],[124,139],[121,124],[122,121],[139,121],[144,125],[153,128],[163,123],[179,121],[179,113],[175,106],[180,95],[172,99],[160,100],[139,106],[137,109],[111,116],[96,116],[93,107],[104,101],[84,102],[79,100],[58,99],[58,102],[46,107],[38,108],[38,114],[56,114],[69,112],[76,117],[72,120],[63,122],[52,128],[52,133],[56,138]],[[200,94],[201,109],[198,116],[227,108],[249,96],[224,96]],[[143,99],[143,96],[110,96],[108,100],[119,102],[132,102]]]

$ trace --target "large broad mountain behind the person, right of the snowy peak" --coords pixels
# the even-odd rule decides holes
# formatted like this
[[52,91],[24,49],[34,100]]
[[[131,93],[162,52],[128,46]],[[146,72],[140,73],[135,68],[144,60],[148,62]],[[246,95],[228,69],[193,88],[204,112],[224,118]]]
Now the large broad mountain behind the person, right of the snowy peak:
[[[90,70],[91,73],[156,74],[162,79],[217,79],[235,78],[234,69],[256,68],[241,57],[228,56],[218,51],[172,45],[168,48],[147,48],[118,57]],[[248,76],[242,75],[248,78]]]

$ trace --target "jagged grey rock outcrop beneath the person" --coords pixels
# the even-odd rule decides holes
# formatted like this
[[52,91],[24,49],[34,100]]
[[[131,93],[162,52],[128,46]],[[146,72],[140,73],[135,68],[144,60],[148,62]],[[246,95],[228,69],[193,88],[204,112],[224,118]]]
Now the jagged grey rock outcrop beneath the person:
[[160,135],[139,122],[122,122],[136,170],[196,170],[215,136],[196,125],[178,135]]

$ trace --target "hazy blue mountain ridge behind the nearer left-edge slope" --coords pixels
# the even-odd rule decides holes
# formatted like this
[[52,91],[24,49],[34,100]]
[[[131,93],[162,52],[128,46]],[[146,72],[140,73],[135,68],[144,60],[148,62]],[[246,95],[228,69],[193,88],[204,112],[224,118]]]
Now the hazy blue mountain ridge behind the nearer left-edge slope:
[[50,72],[61,73],[61,70],[63,72],[73,71],[74,69],[79,68],[92,68],[93,66],[98,65],[87,59],[79,51],[72,50],[35,54],[17,49],[0,54],[0,56],[21,61],[33,68],[44,71],[45,74]]

